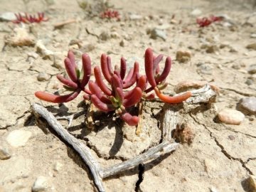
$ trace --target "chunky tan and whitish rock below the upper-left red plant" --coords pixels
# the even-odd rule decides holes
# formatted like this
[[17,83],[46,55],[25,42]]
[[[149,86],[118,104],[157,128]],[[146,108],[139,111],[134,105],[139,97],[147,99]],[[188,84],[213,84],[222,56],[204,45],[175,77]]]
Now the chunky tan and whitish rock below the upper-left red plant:
[[33,46],[35,40],[28,34],[26,28],[14,28],[13,33],[5,36],[4,42],[9,46]]

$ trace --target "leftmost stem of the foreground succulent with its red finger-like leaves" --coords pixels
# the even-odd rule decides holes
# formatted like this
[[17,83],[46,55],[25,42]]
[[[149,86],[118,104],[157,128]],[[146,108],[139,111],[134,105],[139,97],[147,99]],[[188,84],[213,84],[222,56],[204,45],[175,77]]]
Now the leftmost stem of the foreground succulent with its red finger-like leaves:
[[[75,55],[72,51],[68,52],[68,58],[65,58],[64,63],[65,69],[70,79],[64,78],[62,75],[57,75],[57,78],[58,80],[60,80],[60,82],[64,84],[63,87],[66,90],[70,90],[72,92],[68,95],[53,95],[47,92],[38,91],[35,93],[36,97],[47,102],[60,103],[74,100],[75,97],[78,97],[81,91],[87,94],[91,93],[85,88],[85,85],[87,85],[87,83],[89,82],[91,75],[90,57],[87,54],[82,55],[82,79],[80,79],[80,70],[78,70],[78,66],[75,63]],[[85,95],[85,97],[87,97],[88,99],[89,95],[87,94]]]

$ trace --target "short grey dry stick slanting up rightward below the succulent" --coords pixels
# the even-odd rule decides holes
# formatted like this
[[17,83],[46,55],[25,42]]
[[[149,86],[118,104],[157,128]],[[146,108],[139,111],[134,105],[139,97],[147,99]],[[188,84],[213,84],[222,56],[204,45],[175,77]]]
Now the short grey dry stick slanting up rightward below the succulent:
[[168,154],[171,151],[174,151],[177,148],[178,144],[170,142],[162,142],[161,144],[151,147],[148,151],[140,154],[139,156],[135,156],[133,159],[129,159],[120,164],[115,164],[114,166],[110,166],[109,168],[100,171],[100,175],[102,178],[107,178],[108,176],[112,176],[114,174],[118,174],[127,169],[131,169],[134,166],[138,166],[139,164],[145,163],[146,161],[153,160],[158,158],[161,155]]

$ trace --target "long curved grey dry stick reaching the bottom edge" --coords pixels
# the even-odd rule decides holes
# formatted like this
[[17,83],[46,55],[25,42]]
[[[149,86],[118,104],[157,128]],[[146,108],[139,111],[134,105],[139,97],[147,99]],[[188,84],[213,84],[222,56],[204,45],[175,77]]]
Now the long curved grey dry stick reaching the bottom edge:
[[53,114],[48,112],[45,107],[42,107],[38,104],[33,104],[32,106],[33,113],[36,115],[36,117],[41,116],[52,127],[55,132],[57,132],[60,137],[62,137],[68,144],[73,146],[75,151],[78,151],[78,154],[82,157],[82,160],[89,166],[90,171],[92,173],[92,176],[95,181],[95,185],[97,186],[99,191],[105,191],[102,178],[100,177],[100,166],[97,163],[96,159],[92,156],[90,149],[85,146],[85,144],[82,144],[78,139],[73,137],[66,129],[64,129],[61,124],[55,119]]

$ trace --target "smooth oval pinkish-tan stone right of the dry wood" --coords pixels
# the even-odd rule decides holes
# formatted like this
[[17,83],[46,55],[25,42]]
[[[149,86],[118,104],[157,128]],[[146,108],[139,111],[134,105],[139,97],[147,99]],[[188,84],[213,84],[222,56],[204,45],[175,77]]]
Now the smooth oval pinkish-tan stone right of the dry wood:
[[218,112],[218,118],[225,124],[240,124],[245,119],[245,114],[238,110],[224,109]]

